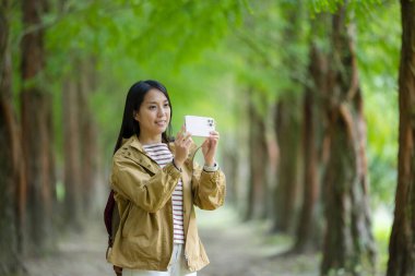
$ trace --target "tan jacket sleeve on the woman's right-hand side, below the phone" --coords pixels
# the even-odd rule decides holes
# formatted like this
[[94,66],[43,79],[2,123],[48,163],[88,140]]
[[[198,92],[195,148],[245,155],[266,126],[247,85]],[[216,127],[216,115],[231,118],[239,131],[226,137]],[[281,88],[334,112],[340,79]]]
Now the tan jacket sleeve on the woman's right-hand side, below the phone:
[[222,206],[226,195],[226,180],[222,170],[208,172],[194,164],[192,175],[193,202],[201,209],[215,209]]

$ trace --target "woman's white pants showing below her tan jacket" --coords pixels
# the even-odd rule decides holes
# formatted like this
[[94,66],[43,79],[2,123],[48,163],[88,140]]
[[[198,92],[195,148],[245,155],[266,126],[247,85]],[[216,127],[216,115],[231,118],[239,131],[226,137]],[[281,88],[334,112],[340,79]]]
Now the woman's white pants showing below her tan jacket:
[[195,272],[190,272],[185,260],[183,244],[175,243],[173,247],[170,263],[167,272],[122,269],[122,276],[197,276]]

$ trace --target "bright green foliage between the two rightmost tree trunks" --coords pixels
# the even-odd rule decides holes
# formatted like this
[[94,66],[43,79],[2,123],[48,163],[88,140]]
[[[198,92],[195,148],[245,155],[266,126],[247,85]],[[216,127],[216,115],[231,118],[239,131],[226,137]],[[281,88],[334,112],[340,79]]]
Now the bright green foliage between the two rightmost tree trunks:
[[[395,19],[391,21],[390,19]],[[399,3],[357,19],[357,58],[365,98],[372,201],[394,204],[398,157]]]

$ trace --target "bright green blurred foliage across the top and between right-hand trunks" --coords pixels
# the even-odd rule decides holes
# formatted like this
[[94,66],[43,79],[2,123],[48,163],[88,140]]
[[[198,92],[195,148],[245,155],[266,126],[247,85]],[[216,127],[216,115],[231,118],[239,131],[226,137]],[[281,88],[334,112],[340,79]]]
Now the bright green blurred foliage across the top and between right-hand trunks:
[[[145,79],[168,87],[176,131],[183,115],[200,113],[215,117],[220,128],[232,132],[240,127],[246,100],[266,116],[284,93],[300,95],[308,82],[308,34],[313,27],[307,12],[335,12],[343,0],[303,5],[288,0],[51,3],[39,26],[46,31],[46,72],[31,82],[54,97],[59,156],[62,81],[76,77],[79,60],[97,61],[99,82],[91,92],[90,106],[105,148],[114,146],[128,88]],[[19,74],[19,45],[29,32],[23,29],[20,9],[15,4],[11,16],[15,95],[31,85],[22,84]],[[393,1],[354,0],[348,9],[357,22],[372,192],[377,202],[391,202],[398,151],[399,7]],[[252,93],[247,99],[248,91]]]

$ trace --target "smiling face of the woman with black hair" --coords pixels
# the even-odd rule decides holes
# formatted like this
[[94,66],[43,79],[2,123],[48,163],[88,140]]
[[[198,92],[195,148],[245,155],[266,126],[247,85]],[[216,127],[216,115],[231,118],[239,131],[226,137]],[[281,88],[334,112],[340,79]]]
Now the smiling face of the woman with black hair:
[[170,104],[163,92],[150,89],[134,119],[140,123],[140,135],[162,135],[170,122]]

